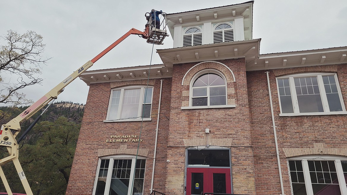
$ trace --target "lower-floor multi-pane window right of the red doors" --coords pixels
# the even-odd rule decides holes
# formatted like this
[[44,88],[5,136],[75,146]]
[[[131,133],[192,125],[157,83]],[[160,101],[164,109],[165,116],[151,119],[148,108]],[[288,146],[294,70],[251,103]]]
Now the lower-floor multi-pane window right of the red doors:
[[347,194],[347,158],[311,155],[288,165],[293,195]]

